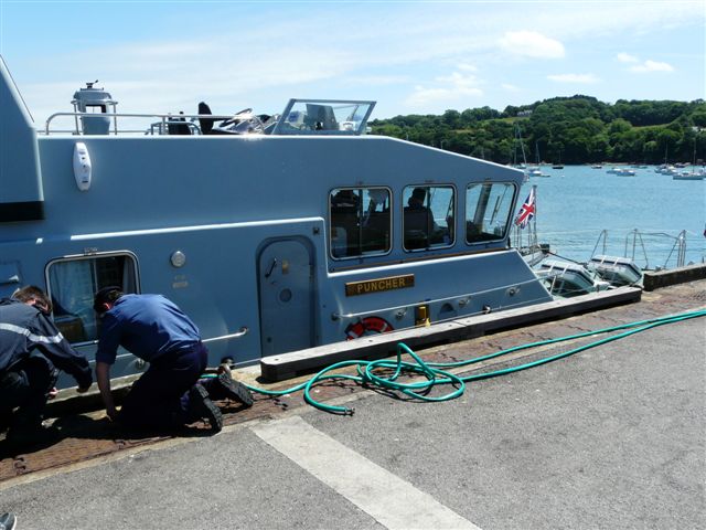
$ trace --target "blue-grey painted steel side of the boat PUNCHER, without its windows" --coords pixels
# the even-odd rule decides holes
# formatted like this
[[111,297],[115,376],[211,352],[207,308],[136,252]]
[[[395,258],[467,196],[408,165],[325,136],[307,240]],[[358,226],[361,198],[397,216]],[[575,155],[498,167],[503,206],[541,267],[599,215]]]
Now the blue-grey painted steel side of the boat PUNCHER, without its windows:
[[[0,112],[21,116],[8,78]],[[473,244],[462,235],[467,187],[510,183],[515,211],[516,170],[375,136],[76,138],[38,137],[19,118],[12,127],[22,134],[3,135],[2,152],[23,166],[2,162],[2,201],[42,200],[44,219],[0,222],[0,296],[26,284],[56,295],[53,264],[119,255],[135,263],[138,292],[161,293],[193,318],[211,364],[345,341],[367,317],[413,328],[420,306],[437,322],[552,299],[507,234]],[[93,163],[86,191],[72,170],[78,140]],[[403,247],[403,189],[419,184],[454,190],[459,236],[443,248]],[[333,258],[329,197],[345,187],[391,191],[388,252]],[[6,198],[10,189],[30,191]],[[346,295],[352,283],[405,275],[414,286]],[[75,347],[93,358],[96,344]],[[142,369],[122,352],[113,373]]]

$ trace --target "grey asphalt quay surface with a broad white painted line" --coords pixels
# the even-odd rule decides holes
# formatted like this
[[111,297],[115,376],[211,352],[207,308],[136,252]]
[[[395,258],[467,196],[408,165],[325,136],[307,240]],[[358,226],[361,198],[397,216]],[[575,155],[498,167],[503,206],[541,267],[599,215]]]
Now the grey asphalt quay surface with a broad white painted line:
[[[703,307],[704,285],[523,333]],[[333,399],[353,416],[280,406],[217,436],[4,480],[0,511],[22,529],[706,528],[705,329],[655,328],[449,402],[357,391]],[[436,350],[468,358],[520,336]]]

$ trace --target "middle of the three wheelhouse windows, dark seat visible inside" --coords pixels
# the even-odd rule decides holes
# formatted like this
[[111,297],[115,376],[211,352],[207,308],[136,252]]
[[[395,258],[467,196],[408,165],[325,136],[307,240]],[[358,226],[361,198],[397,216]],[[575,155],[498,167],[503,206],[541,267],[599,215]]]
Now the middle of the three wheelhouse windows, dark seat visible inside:
[[405,250],[453,244],[454,193],[450,186],[409,186],[403,191]]

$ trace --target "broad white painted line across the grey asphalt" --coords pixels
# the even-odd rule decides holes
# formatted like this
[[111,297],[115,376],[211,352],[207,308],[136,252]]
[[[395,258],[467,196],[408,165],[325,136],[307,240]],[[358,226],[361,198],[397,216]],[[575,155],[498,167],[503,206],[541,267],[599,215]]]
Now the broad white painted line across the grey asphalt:
[[430,495],[315,430],[299,416],[250,428],[389,529],[480,530]]

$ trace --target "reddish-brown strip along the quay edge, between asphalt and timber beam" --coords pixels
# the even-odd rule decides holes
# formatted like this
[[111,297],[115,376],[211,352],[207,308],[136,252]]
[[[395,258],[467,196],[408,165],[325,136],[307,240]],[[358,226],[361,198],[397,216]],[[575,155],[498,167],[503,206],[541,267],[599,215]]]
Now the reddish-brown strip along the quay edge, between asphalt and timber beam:
[[[706,307],[706,280],[702,279],[650,293],[645,292],[642,294],[642,299],[635,304],[524,326],[471,340],[436,346],[420,351],[420,354],[426,361],[443,362],[470,359],[537,340],[575,335],[704,307]],[[585,340],[588,341],[590,339]],[[561,348],[564,347],[558,344],[550,349],[560,351]],[[490,364],[500,367],[520,358],[531,360],[533,357],[544,357],[546,354],[547,348],[544,348],[541,352],[533,350],[520,351],[510,356],[511,358],[494,359],[477,364],[473,370],[463,368],[457,372],[469,373],[474,370],[486,369]],[[287,389],[306,380],[304,377],[275,384],[264,384],[257,381],[259,373],[252,369],[237,370],[234,375],[248,384],[266,389]],[[345,396],[354,393],[370,392],[370,390],[352,382],[331,382],[319,385],[315,392],[318,400],[332,402],[344,400]],[[223,406],[225,425],[244,423],[254,418],[274,417],[288,410],[304,405],[301,393],[288,394],[276,399],[257,394],[255,395],[253,407],[245,410],[233,403],[224,402],[220,404]],[[405,404],[399,403],[397,406],[405,406]],[[103,409],[99,407],[96,394],[73,398],[63,403],[52,403],[49,407],[49,413],[54,416],[50,422],[57,426],[61,433],[60,439],[55,443],[44,447],[33,447],[22,453],[11,453],[4,439],[0,437],[0,489],[28,479],[32,480],[58,473],[63,469],[83,467],[107,458],[120,458],[143,448],[183,443],[190,438],[210,435],[203,424],[195,424],[179,433],[169,435],[130,435],[120,432],[106,418]]]

